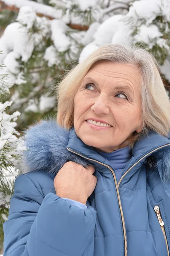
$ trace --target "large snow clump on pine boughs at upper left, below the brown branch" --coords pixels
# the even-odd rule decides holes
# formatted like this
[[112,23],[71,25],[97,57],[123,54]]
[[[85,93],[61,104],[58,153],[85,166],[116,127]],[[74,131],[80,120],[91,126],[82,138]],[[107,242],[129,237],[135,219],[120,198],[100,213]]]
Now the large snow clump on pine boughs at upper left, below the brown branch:
[[[17,17],[18,22],[9,24],[3,36],[0,38],[0,74],[6,72],[9,84],[23,84],[25,79],[23,71],[20,71],[20,62],[27,62],[31,58],[35,47],[43,47],[43,38],[51,35],[51,21],[46,17],[38,17],[30,7],[22,7]],[[32,26],[37,32],[30,32]]]

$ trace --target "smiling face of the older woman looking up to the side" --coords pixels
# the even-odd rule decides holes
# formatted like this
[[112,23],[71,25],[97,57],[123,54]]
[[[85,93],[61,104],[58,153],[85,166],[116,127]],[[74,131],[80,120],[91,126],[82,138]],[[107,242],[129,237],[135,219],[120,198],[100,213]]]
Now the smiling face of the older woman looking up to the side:
[[75,132],[86,145],[109,153],[142,130],[140,78],[135,65],[111,61],[89,70],[74,98]]

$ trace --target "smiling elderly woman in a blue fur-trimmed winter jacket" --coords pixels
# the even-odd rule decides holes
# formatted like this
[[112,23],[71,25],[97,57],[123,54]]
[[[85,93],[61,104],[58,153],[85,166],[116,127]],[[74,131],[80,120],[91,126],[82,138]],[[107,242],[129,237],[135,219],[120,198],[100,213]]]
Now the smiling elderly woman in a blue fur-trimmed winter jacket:
[[169,256],[170,100],[144,49],[99,48],[26,130],[4,256]]

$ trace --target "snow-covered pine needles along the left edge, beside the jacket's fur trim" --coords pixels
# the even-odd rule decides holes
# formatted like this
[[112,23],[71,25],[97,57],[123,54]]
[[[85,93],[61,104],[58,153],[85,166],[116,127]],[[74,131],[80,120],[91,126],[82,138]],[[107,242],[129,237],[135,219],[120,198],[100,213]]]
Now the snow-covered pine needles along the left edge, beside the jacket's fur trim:
[[[4,65],[1,65],[3,69]],[[13,192],[14,178],[19,173],[24,147],[20,133],[15,130],[15,122],[20,112],[9,114],[12,101],[6,101],[10,86],[0,75],[0,249],[3,246],[3,222],[9,214],[9,201]]]

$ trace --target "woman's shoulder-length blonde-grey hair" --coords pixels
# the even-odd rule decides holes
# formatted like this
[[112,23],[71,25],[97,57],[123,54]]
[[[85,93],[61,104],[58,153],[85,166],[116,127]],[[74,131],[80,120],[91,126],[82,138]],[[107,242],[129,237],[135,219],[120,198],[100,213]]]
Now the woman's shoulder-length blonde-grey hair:
[[74,97],[86,73],[101,61],[133,64],[141,73],[141,122],[142,131],[134,132],[128,145],[133,148],[136,140],[149,130],[164,137],[170,130],[170,99],[161,79],[156,59],[146,50],[136,46],[109,44],[100,47],[73,68],[56,87],[58,99],[57,122],[66,129],[73,127]]

